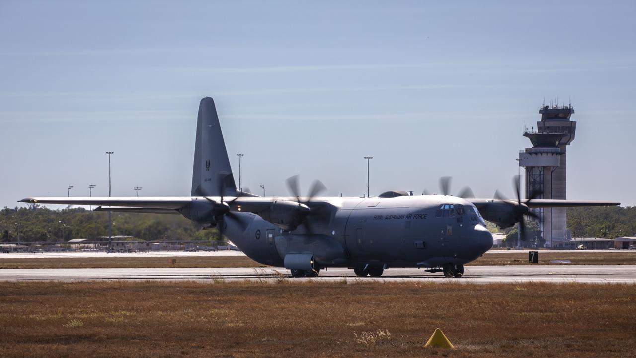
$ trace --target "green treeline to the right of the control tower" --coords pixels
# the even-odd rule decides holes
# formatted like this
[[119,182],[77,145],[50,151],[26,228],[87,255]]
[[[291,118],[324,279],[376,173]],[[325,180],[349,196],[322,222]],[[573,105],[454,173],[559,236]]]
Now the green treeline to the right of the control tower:
[[636,206],[598,206],[569,208],[567,228],[573,238],[614,239],[636,235]]

